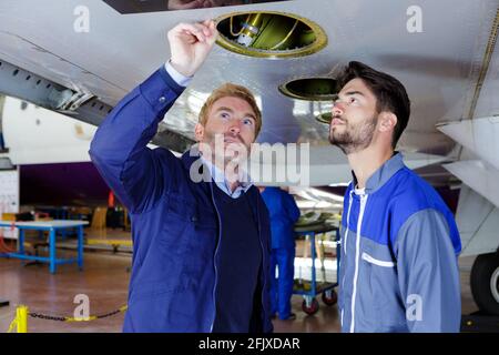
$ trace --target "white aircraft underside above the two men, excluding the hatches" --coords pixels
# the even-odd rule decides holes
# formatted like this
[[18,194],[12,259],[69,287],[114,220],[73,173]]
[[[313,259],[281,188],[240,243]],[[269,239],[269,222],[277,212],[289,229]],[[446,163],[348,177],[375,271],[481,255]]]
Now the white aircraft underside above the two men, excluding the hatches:
[[[74,10],[80,6],[89,10],[89,32],[74,30]],[[407,29],[411,6],[421,9],[420,32]],[[348,182],[344,154],[328,143],[327,124],[314,119],[319,110],[329,110],[330,103],[292,100],[277,88],[296,78],[334,77],[348,61],[363,61],[393,74],[407,88],[411,118],[398,150],[405,153],[408,165],[416,169],[444,163],[449,172],[446,183],[462,182],[457,213],[462,255],[498,248],[497,0],[294,0],[135,14],[121,14],[98,0],[3,0],[0,60],[71,90],[91,93],[112,106],[169,59],[166,31],[173,26],[253,10],[309,19],[324,29],[327,45],[312,55],[279,60],[244,57],[215,45],[165,115],[165,128],[192,139],[198,110],[208,93],[227,81],[240,83],[256,94],[263,110],[258,142],[308,142],[310,185]],[[0,73],[4,68],[0,67]],[[8,135],[7,119],[3,121],[13,163],[29,163],[29,154],[21,158],[16,150],[23,146],[26,151],[31,140],[23,140],[19,133]],[[81,150],[86,152],[88,145]],[[38,162],[70,159],[54,156],[39,156]],[[430,175],[426,178],[431,182]]]

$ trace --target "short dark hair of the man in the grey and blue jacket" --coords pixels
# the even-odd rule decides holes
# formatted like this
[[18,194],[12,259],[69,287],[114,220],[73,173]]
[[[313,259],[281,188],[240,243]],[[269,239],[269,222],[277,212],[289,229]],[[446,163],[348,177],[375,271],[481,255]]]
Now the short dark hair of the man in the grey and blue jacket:
[[395,149],[410,115],[410,101],[406,88],[391,75],[374,70],[364,63],[352,61],[337,78],[338,91],[356,78],[361,79],[376,97],[378,112],[390,111],[397,116],[397,124],[391,136],[391,146]]

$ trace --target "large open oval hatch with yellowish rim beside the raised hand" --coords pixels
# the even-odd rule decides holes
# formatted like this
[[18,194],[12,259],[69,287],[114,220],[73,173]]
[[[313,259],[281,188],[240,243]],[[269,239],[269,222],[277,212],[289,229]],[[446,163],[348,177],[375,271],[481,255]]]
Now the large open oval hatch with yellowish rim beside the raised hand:
[[284,12],[233,12],[216,19],[216,41],[232,52],[257,58],[309,55],[327,44],[327,36],[315,22]]

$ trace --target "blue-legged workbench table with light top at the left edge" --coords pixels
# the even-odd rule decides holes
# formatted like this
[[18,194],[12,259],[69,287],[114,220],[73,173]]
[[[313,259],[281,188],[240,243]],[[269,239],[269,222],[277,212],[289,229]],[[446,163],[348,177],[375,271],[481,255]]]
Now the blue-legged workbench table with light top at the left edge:
[[[78,263],[80,270],[83,270],[83,226],[89,224],[88,221],[32,221],[32,222],[12,222],[0,221],[0,226],[17,227],[19,230],[18,253],[3,253],[3,257],[17,257],[21,260],[32,260],[50,264],[50,272],[55,273],[57,265]],[[57,258],[55,256],[55,235],[58,231],[68,229],[78,230],[78,257],[77,258]],[[49,257],[26,255],[24,253],[24,231],[49,231]]]

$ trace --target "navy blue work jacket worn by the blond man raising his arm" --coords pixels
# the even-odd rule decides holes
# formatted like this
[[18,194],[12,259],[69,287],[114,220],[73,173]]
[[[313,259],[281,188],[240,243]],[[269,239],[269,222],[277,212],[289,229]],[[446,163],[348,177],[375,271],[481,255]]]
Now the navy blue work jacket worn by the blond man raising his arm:
[[[89,152],[132,221],[124,332],[211,332],[215,320],[215,256],[223,229],[215,183],[191,179],[191,169],[207,171],[195,154],[176,158],[166,149],[146,146],[183,90],[160,68],[112,110]],[[261,302],[255,302],[249,331],[272,332],[268,212],[255,186],[246,193],[263,255]]]

